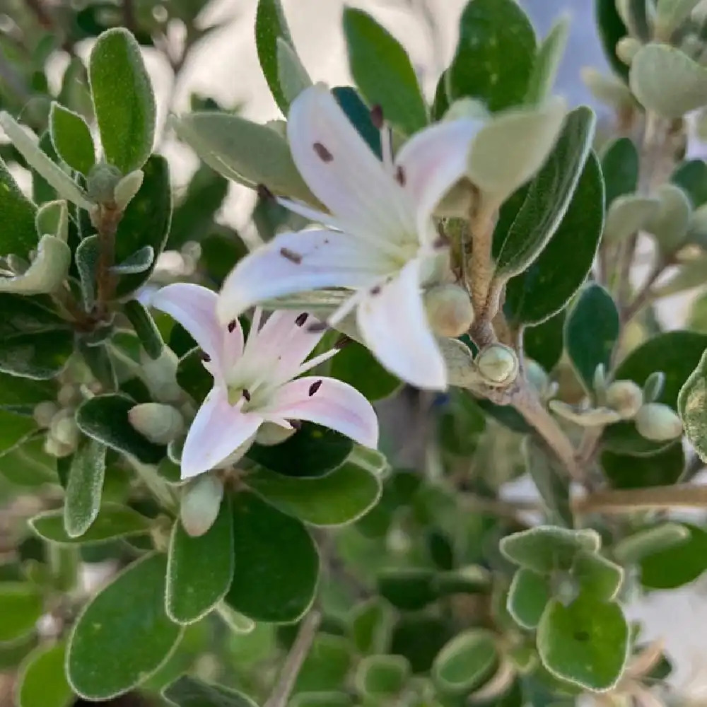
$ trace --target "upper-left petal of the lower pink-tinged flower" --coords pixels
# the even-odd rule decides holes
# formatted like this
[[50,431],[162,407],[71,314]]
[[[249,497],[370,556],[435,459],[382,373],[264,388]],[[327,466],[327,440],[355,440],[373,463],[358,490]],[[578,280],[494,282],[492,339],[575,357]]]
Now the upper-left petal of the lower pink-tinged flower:
[[[167,312],[177,320],[192,335],[201,349],[211,356],[216,368],[223,370],[224,337],[227,329],[224,329],[216,319],[217,299],[218,295],[206,287],[177,283],[163,287],[153,294],[150,305]],[[240,355],[240,351],[243,351],[243,331],[238,321],[229,337],[231,338],[228,342],[230,354],[233,356],[237,351]]]

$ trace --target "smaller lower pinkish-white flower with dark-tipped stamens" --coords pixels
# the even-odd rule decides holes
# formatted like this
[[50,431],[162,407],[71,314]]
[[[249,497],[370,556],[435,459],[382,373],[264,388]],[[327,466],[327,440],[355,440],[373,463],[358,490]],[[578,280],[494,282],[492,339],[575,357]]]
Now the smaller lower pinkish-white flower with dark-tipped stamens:
[[308,315],[274,312],[261,327],[262,312],[256,309],[244,344],[238,320],[218,322],[216,299],[205,287],[180,283],[162,288],[151,300],[197,341],[204,366],[214,376],[214,387],[187,433],[183,479],[226,460],[233,463],[266,422],[292,429],[291,421],[308,420],[367,447],[378,445],[378,419],[354,387],[325,376],[297,378],[337,353],[334,349],[305,361],[322,337],[305,326]]

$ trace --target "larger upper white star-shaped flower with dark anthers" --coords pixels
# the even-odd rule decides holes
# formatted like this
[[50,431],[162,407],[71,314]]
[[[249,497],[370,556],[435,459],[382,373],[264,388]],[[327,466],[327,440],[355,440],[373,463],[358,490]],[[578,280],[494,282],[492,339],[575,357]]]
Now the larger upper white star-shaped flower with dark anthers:
[[298,170],[331,213],[279,201],[327,228],[281,233],[238,263],[218,300],[221,321],[269,298],[322,287],[356,290],[329,325],[356,309],[361,337],[383,366],[412,385],[443,390],[447,370],[421,286],[447,255],[433,209],[466,173],[481,126],[468,118],[438,123],[395,160],[384,126],[381,162],[325,87],[304,90],[291,107],[288,140]]

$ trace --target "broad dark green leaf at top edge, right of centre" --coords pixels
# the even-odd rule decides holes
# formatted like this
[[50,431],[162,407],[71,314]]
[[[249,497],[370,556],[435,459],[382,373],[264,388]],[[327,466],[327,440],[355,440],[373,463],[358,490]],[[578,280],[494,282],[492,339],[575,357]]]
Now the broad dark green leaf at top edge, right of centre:
[[514,0],[472,0],[462,11],[460,38],[446,71],[450,102],[470,96],[491,111],[520,105],[535,59],[535,33]]

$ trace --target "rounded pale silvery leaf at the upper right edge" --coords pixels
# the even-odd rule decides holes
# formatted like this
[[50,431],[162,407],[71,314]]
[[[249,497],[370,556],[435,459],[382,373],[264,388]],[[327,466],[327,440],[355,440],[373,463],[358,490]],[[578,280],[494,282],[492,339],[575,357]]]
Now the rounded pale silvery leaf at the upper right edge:
[[629,80],[641,104],[664,118],[707,105],[707,69],[668,45],[645,45],[633,57]]

